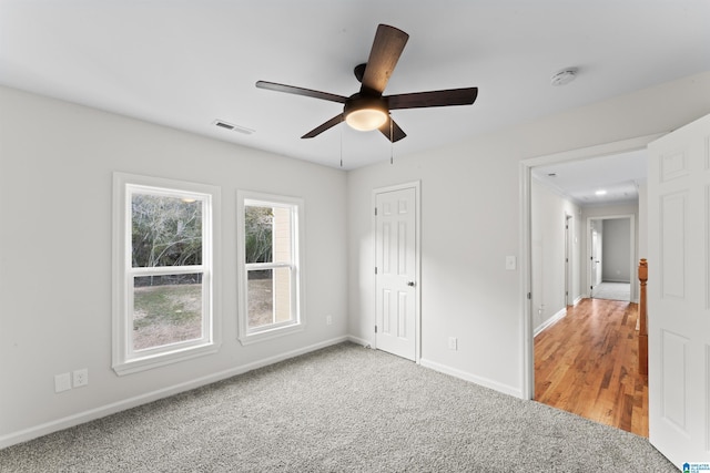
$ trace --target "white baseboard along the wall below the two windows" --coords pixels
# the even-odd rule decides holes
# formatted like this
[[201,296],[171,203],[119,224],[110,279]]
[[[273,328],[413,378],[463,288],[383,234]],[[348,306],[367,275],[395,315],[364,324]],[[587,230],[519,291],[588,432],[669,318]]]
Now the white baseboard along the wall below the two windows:
[[[74,425],[79,425],[85,422],[101,419],[106,415],[114,414],[116,412],[125,411],[128,409],[136,408],[149,402],[158,401],[159,399],[168,398],[170,395],[179,394],[184,391],[190,391],[202,385],[211,384],[213,382],[222,381],[227,378],[232,378],[237,374],[243,374],[248,371],[253,371],[258,368],[274,364],[280,361],[284,361],[301,354],[310,353],[322,348],[331,347],[333,345],[342,343],[344,341],[354,341],[352,337],[337,337],[331,340],[322,341],[320,343],[311,345],[308,347],[300,348],[297,350],[287,351],[285,353],[276,354],[274,357],[265,358],[263,360],[255,361],[253,363],[244,364],[229,370],[220,371],[213,374],[209,374],[194,380],[185,381],[180,384],[174,384],[168,388],[159,389],[156,391],[146,392],[144,394],[135,395],[133,398],[124,399],[111,404],[101,405],[99,408],[90,409],[88,411],[79,412],[55,421],[45,422],[40,425],[31,426],[29,429],[21,430],[19,432],[12,432],[0,436],[0,449],[4,449],[17,443],[27,442],[28,440],[37,439],[38,436],[47,435],[52,432],[69,429]],[[355,341],[357,343],[357,341]]]

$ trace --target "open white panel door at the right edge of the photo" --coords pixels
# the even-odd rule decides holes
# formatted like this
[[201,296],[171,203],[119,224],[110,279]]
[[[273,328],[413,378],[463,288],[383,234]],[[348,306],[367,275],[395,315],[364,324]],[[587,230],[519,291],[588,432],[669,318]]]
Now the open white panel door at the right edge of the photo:
[[649,144],[649,436],[710,462],[710,115]]

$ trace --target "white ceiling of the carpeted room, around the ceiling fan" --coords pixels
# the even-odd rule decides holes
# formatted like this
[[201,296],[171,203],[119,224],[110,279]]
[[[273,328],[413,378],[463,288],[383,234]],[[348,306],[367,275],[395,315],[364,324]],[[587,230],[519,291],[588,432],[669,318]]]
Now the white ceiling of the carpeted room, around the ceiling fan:
[[[709,20],[707,0],[2,0],[0,84],[354,168],[710,70]],[[393,111],[394,145],[345,124],[301,140],[341,105],[254,83],[351,95],[378,23],[410,35],[385,94],[478,100]]]

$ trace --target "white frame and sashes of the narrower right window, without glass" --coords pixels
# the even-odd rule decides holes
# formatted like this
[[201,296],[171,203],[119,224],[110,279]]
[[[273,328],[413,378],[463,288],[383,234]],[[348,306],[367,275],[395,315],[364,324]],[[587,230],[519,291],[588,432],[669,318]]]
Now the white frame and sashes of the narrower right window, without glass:
[[[237,338],[242,345],[250,345],[262,340],[298,332],[305,328],[304,307],[304,200],[298,197],[290,197],[275,194],[266,194],[253,191],[240,189],[236,193],[236,224],[237,224]],[[291,263],[246,263],[245,248],[245,207],[247,206],[286,207],[291,212]],[[248,270],[263,269],[291,269],[291,313],[288,321],[275,322],[254,329],[248,328]],[[274,297],[276,295],[274,294]]]

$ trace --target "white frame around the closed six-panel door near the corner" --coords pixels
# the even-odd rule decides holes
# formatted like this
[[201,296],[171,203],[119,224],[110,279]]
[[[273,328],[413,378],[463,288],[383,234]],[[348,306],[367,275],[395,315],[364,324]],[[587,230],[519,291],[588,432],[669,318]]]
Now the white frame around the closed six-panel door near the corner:
[[[394,192],[394,191],[403,191],[403,189],[407,189],[407,188],[414,188],[414,200],[415,200],[415,210],[414,210],[414,218],[415,218],[415,228],[414,228],[414,235],[415,235],[415,244],[414,244],[414,260],[415,260],[415,269],[414,269],[414,274],[415,274],[415,282],[416,285],[414,286],[414,318],[415,318],[415,333],[414,333],[414,340],[415,340],[415,349],[414,349],[414,361],[419,364],[419,361],[422,360],[422,181],[413,181],[413,182],[408,182],[408,183],[403,183],[403,184],[395,184],[395,185],[390,185],[390,186],[386,186],[386,187],[377,187],[374,188],[372,191],[372,195],[371,195],[371,209],[373,210],[371,213],[371,228],[372,228],[372,241],[373,241],[373,294],[377,292],[377,278],[375,276],[375,271],[374,268],[377,266],[377,217],[375,216],[375,212],[374,209],[377,207],[377,195],[378,194],[385,194],[388,192]],[[374,300],[375,306],[373,307],[374,310],[374,317],[375,317],[375,321],[377,319],[377,297],[375,297]],[[371,346],[374,349],[377,349],[377,337],[375,336],[375,331],[374,331],[374,326],[373,325],[373,331],[372,331],[372,341],[371,341]]]

